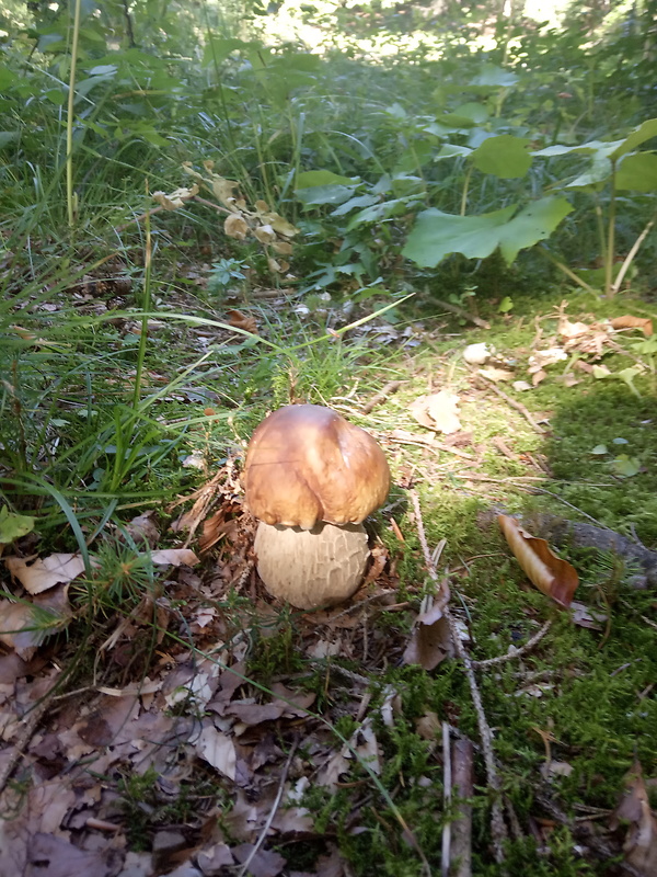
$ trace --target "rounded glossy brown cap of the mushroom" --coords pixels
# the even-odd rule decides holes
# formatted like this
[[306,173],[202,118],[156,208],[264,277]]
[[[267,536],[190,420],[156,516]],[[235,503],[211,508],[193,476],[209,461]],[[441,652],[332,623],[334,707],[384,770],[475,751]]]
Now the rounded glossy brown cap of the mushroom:
[[289,405],[253,433],[244,488],[250,511],[267,524],[359,524],[384,502],[390,469],[360,426],[330,408]]

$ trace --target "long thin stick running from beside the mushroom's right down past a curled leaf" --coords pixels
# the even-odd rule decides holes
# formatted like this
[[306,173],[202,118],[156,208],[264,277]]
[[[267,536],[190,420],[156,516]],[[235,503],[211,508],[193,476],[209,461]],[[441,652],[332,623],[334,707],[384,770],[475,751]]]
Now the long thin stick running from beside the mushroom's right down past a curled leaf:
[[[431,577],[431,579],[434,579],[435,582],[438,582],[439,581],[438,573],[436,572],[436,567],[434,565],[434,561],[431,560],[431,553],[429,550],[429,546],[427,544],[427,537],[425,534],[424,522],[422,517],[422,509],[419,506],[419,497],[417,496],[417,492],[415,490],[410,490],[408,496],[411,497],[413,509],[415,511],[417,535],[419,536],[419,543],[422,545],[422,550],[425,557],[427,571]],[[504,844],[508,838],[508,834],[502,811],[502,783],[499,781],[497,764],[495,762],[495,752],[493,751],[493,733],[491,731],[491,726],[488,725],[488,720],[486,719],[486,714],[484,713],[482,695],[480,693],[479,685],[476,683],[476,677],[474,675],[472,661],[470,659],[470,656],[465,651],[463,643],[461,642],[459,630],[457,628],[457,623],[449,606],[445,607],[442,614],[449,626],[449,630],[452,637],[452,641],[454,643],[454,650],[457,652],[457,656],[463,662],[463,667],[465,669],[465,677],[468,679],[468,684],[470,685],[470,696],[472,697],[472,703],[474,705],[474,710],[476,713],[476,724],[482,740],[482,750],[484,753],[484,763],[486,766],[486,778],[488,782],[488,786],[493,790],[492,813],[491,813],[491,831],[493,834],[493,848],[495,852],[495,861],[497,862],[498,865],[502,865],[505,861]]]

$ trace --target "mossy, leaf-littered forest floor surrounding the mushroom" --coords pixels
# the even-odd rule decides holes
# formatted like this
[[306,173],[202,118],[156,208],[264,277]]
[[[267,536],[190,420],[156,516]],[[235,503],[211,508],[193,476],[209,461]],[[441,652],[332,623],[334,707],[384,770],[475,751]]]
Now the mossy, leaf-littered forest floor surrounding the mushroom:
[[[3,469],[12,526],[45,527],[0,522],[0,877],[654,874],[650,306],[427,295],[344,331],[359,315],[322,300],[181,292],[149,322],[136,425],[128,299],[87,278],[35,304],[47,342],[16,328],[51,490],[35,510]],[[328,611],[266,593],[243,505],[249,435],[297,401],[393,474],[367,578]],[[575,567],[565,606],[499,514]]]

